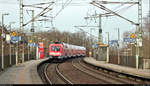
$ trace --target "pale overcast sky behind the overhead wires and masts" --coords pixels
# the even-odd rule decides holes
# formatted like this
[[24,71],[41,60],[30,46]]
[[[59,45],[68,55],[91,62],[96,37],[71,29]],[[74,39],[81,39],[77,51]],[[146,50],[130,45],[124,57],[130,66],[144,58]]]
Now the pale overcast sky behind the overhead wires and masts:
[[[24,0],[24,4],[35,4],[39,2],[48,2],[50,0]],[[60,2],[66,2],[67,0],[55,0]],[[108,0],[108,1],[125,1],[125,0]],[[126,0],[126,1],[137,1],[137,0]],[[101,9],[89,4],[91,0],[72,0],[71,3],[80,3],[78,5],[69,5],[64,10],[60,12],[60,14],[53,20],[54,27],[58,28],[60,31],[70,31],[75,32],[79,31],[74,26],[82,26],[88,24],[89,26],[97,26],[98,25],[98,19],[88,20],[85,21],[84,17],[88,15],[95,14],[95,12],[98,13],[104,13],[105,11],[102,11]],[[145,17],[148,13],[149,9],[149,0],[142,0],[142,8],[143,8],[143,17]],[[47,5],[44,5],[46,7]],[[129,5],[105,5],[106,7],[110,9],[116,9],[117,7],[122,8],[123,10],[119,11],[119,14],[134,21],[137,22],[137,5],[134,5],[128,9],[124,9],[125,7],[128,7]],[[53,5],[53,10],[49,12],[47,15],[55,16],[56,13],[61,9],[61,5]],[[33,8],[25,8],[24,9],[24,22],[27,22],[31,19],[31,12],[27,13],[27,9],[33,9]],[[41,10],[40,9],[34,9],[35,15],[37,15]],[[16,24],[14,24],[12,27],[19,27],[19,1],[18,0],[0,0],[0,15],[2,13],[9,13],[10,15],[5,17],[4,23],[6,25],[9,25],[9,22],[15,21]],[[1,18],[0,18],[1,19]],[[36,30],[48,30],[44,27],[52,27],[51,22],[36,22],[35,23]],[[43,28],[39,28],[43,27]],[[25,29],[30,29],[31,24],[25,27]],[[119,28],[121,33],[124,31],[129,30],[135,30],[135,26],[131,25],[129,22],[117,17],[108,17],[108,18],[102,18],[102,29],[103,29],[103,36],[104,40],[106,40],[106,32],[110,32],[110,39],[117,39],[117,29]],[[85,31],[90,32],[90,28],[83,28]],[[98,36],[98,28],[94,28],[95,30],[92,30],[92,34],[95,36]]]

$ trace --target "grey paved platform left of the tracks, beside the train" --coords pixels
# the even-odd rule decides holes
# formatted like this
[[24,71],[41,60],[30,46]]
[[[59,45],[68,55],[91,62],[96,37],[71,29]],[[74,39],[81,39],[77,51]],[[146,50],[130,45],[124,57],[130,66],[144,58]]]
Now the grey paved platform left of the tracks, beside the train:
[[46,59],[30,60],[0,72],[0,84],[43,84],[37,65]]

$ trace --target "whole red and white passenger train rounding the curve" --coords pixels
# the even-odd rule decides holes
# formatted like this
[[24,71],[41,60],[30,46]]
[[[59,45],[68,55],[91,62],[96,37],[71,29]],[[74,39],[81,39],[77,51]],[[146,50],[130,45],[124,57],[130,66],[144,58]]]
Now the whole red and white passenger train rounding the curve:
[[63,42],[55,42],[49,45],[49,57],[53,59],[67,59],[85,55],[86,48],[83,46],[76,46]]

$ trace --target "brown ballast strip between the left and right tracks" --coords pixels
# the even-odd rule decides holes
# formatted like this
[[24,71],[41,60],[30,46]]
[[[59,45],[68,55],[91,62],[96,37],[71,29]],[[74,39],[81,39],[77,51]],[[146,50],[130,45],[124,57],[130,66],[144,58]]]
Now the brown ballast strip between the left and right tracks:
[[107,84],[108,83],[102,80],[98,80],[97,78],[92,77],[78,70],[72,65],[72,60],[61,64],[59,68],[69,80],[73,81],[74,84]]

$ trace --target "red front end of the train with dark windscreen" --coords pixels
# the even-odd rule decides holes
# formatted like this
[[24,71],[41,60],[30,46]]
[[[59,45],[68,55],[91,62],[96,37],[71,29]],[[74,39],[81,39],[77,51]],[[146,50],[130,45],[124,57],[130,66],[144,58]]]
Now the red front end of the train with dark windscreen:
[[62,44],[50,44],[49,46],[49,58],[51,59],[63,59],[63,46]]

